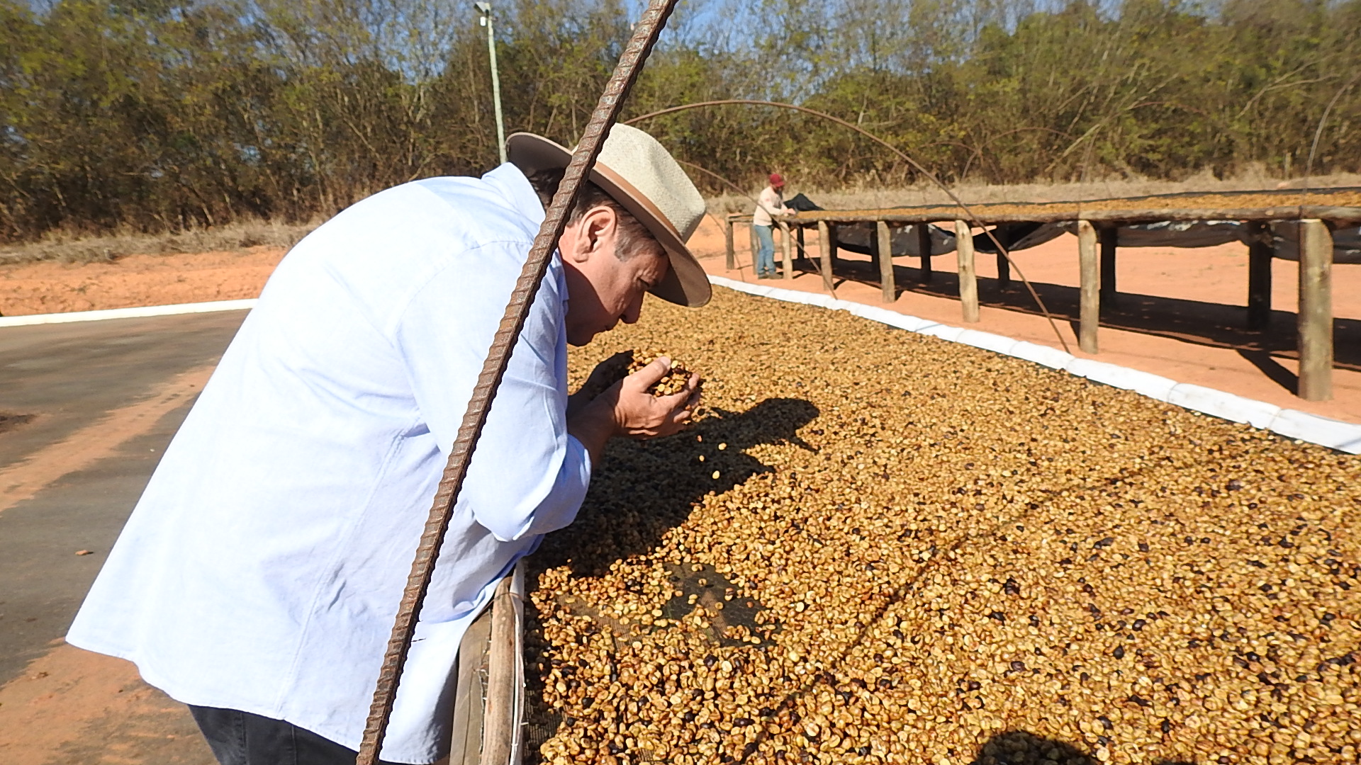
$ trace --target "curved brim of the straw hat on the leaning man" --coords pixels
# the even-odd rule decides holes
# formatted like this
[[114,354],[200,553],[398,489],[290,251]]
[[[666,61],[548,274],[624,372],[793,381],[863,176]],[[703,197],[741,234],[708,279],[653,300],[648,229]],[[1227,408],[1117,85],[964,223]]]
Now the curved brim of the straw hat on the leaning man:
[[[572,151],[543,136],[513,133],[506,139],[506,158],[525,176],[531,176],[539,170],[566,167],[572,162]],[[708,304],[713,294],[708,274],[661,211],[633,184],[602,162],[596,162],[591,169],[591,182],[633,214],[666,250],[671,268],[667,268],[667,275],[651,290],[652,294],[689,308]]]

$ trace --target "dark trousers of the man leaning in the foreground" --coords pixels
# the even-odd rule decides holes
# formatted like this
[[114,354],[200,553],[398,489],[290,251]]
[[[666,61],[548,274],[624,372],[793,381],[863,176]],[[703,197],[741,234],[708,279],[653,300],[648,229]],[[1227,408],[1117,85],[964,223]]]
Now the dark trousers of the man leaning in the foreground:
[[189,712],[222,765],[354,765],[359,755],[284,720],[192,704]]

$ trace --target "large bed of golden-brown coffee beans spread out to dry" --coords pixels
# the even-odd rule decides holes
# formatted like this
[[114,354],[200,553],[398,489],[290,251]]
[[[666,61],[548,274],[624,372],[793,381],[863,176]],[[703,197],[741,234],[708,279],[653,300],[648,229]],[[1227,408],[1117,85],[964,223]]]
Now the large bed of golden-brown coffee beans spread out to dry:
[[721,289],[602,343],[705,400],[529,561],[531,757],[1357,762],[1358,457]]

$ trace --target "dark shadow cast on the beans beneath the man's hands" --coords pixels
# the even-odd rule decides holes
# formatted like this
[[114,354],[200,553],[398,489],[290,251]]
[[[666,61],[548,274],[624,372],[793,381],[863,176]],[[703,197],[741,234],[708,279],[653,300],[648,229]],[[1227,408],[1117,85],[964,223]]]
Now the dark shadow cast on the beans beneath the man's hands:
[[611,441],[576,521],[544,538],[531,568],[570,561],[573,576],[600,576],[615,561],[653,550],[710,491],[723,494],[774,471],[747,449],[792,444],[814,451],[798,432],[817,417],[811,402],[766,399],[743,412],[709,408],[666,438]]

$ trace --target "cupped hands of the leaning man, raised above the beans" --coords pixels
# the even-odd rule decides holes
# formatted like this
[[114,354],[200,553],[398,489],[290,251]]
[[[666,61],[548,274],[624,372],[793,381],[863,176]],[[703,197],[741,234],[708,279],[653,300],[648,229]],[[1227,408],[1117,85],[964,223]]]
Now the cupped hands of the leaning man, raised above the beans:
[[671,372],[671,359],[661,357],[607,388],[568,417],[568,433],[591,452],[599,464],[604,444],[615,436],[656,438],[680,432],[700,406],[700,376],[691,374],[679,393],[653,396],[653,384]]

